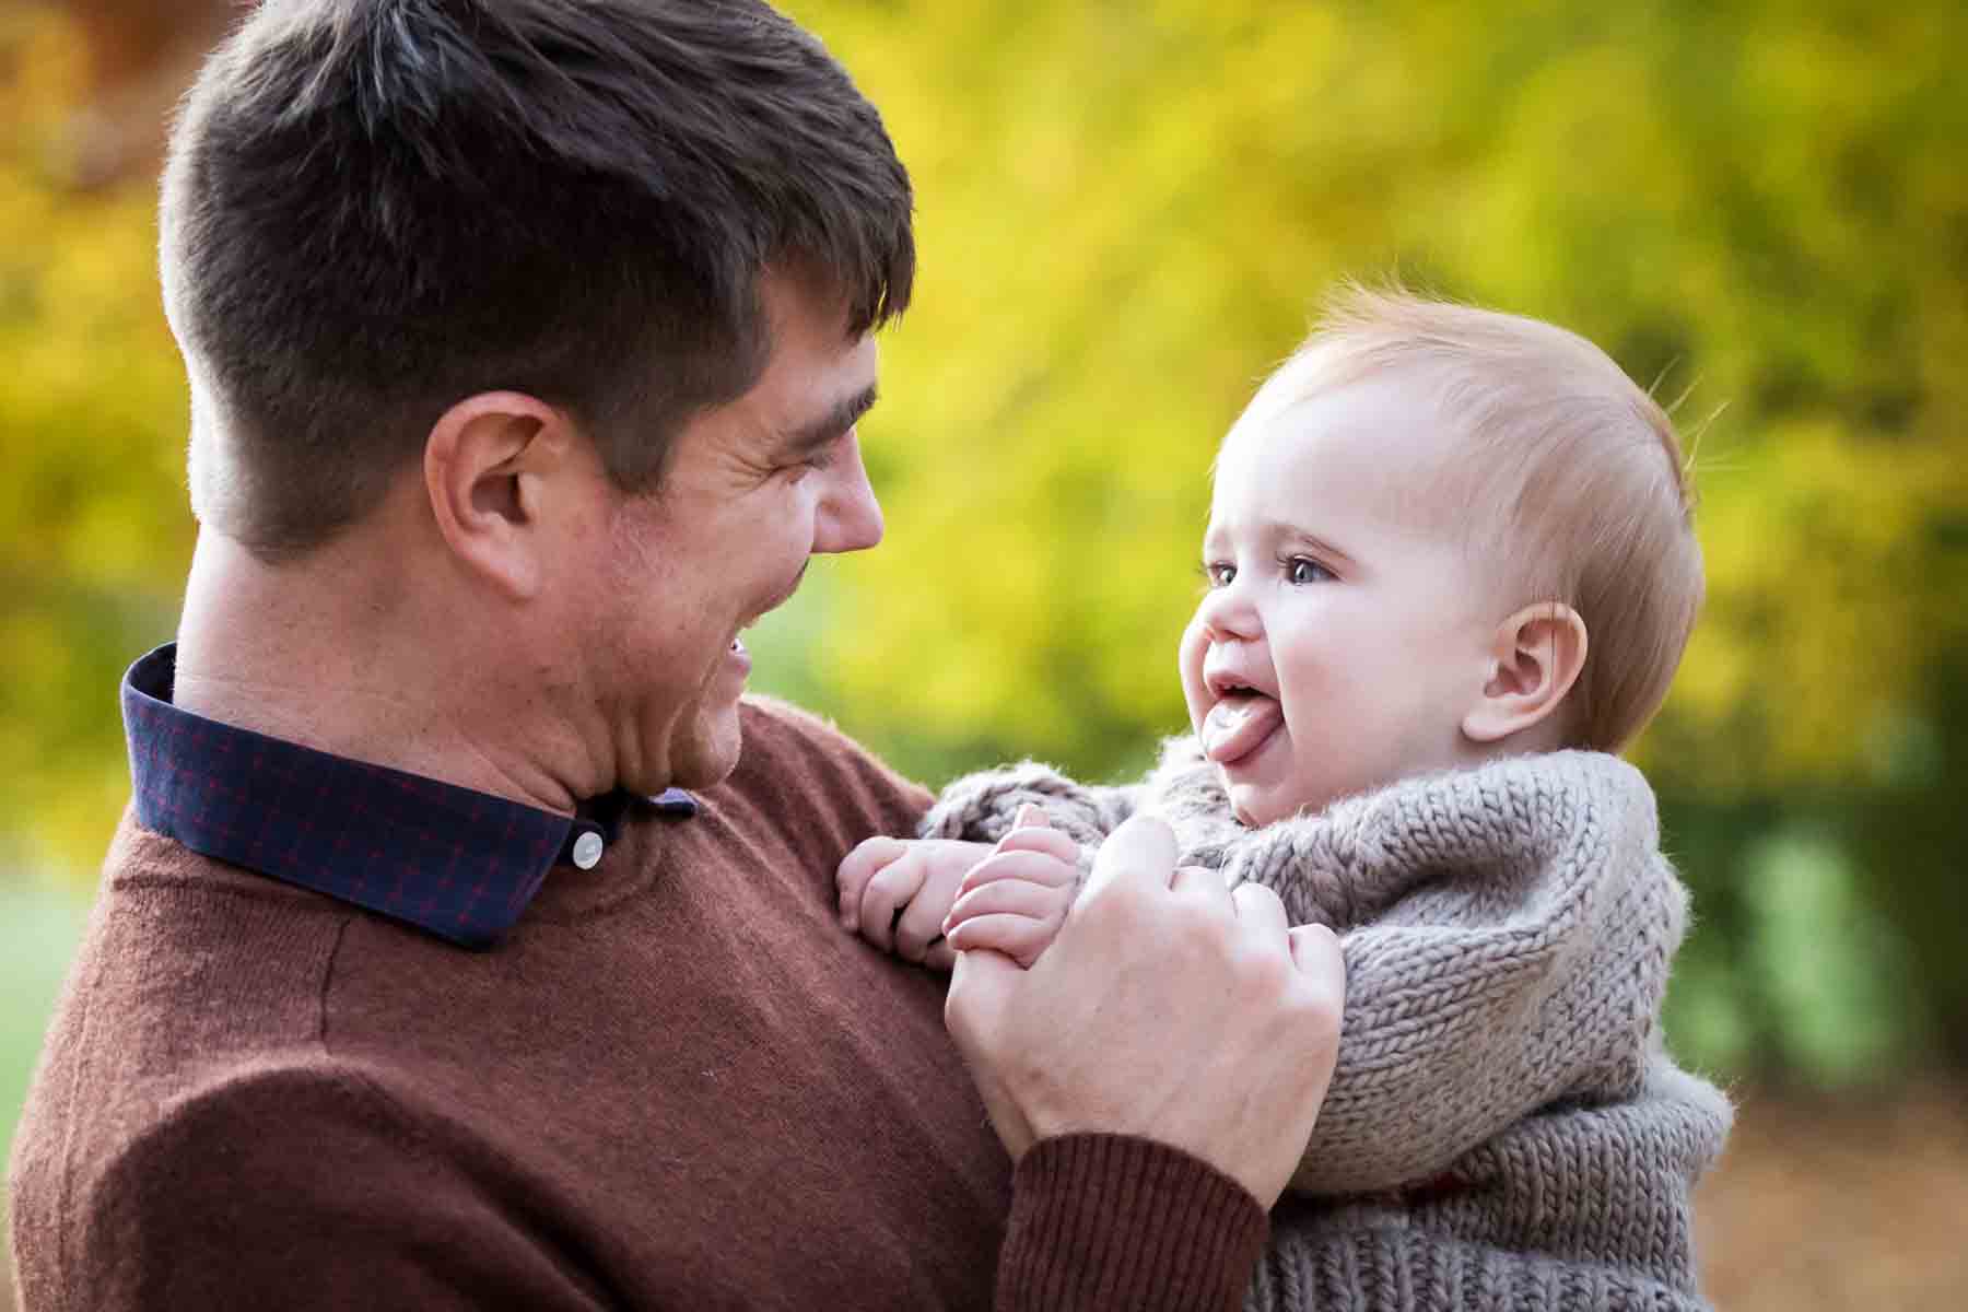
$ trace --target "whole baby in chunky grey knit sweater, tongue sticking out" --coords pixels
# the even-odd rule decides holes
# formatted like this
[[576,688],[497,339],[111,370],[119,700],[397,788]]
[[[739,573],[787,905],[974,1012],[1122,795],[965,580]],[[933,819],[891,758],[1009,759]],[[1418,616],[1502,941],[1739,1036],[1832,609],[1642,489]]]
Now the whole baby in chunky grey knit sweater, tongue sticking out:
[[1128,787],[956,781],[840,864],[842,923],[1029,966],[1102,838],[1159,814],[1346,954],[1256,1306],[1702,1306],[1730,1109],[1661,1048],[1687,893],[1612,755],[1702,598],[1667,415],[1563,328],[1350,289],[1224,439],[1202,576],[1193,736]]

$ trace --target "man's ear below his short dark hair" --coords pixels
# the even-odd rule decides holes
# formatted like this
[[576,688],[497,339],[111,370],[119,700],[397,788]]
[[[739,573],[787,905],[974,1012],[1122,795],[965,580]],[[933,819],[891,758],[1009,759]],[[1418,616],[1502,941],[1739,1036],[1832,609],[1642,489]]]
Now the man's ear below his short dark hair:
[[549,498],[583,470],[584,445],[561,409],[520,391],[464,397],[431,425],[423,488],[451,555],[516,602],[539,592]]

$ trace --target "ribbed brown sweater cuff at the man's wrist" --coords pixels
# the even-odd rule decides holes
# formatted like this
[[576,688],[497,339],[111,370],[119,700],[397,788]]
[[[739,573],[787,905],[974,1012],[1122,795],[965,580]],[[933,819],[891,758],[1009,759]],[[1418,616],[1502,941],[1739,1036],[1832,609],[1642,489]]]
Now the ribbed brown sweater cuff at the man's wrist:
[[1236,1308],[1265,1239],[1256,1198],[1151,1139],[1041,1139],[1012,1190],[998,1312]]

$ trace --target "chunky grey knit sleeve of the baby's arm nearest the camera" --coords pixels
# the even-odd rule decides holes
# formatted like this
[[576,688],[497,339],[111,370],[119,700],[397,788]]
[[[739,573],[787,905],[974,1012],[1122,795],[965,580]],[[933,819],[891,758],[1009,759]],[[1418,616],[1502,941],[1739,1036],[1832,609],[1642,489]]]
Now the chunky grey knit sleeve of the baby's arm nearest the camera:
[[1427,1184],[1561,1098],[1641,1080],[1687,905],[1651,793],[1614,757],[1527,757],[1252,834],[1273,887],[1346,956],[1340,1056],[1291,1188]]

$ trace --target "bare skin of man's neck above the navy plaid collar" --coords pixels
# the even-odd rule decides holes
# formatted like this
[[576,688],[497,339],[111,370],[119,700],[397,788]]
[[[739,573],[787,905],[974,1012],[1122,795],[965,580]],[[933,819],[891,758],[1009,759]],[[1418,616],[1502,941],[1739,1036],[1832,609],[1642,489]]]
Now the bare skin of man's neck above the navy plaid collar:
[[[317,751],[443,779],[571,814],[583,759],[563,724],[486,683],[457,626],[413,614],[405,563],[374,568],[360,543],[266,565],[201,531],[185,586],[173,702]],[[476,647],[482,651],[482,647]],[[537,716],[537,708],[533,710]],[[547,747],[545,751],[541,747]]]

